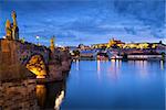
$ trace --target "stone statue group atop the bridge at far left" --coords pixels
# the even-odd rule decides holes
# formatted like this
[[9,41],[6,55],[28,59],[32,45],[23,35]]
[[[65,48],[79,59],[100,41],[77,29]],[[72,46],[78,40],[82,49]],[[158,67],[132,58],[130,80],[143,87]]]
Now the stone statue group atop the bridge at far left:
[[12,11],[13,23],[10,23],[9,20],[6,22],[6,37],[8,40],[19,40],[19,28],[17,23],[17,13]]

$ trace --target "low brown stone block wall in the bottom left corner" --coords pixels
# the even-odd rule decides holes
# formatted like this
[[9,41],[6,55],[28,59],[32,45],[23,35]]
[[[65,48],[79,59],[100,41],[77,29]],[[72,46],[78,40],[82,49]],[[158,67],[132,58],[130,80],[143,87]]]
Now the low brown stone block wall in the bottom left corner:
[[39,110],[35,86],[34,79],[0,84],[0,108],[2,110]]

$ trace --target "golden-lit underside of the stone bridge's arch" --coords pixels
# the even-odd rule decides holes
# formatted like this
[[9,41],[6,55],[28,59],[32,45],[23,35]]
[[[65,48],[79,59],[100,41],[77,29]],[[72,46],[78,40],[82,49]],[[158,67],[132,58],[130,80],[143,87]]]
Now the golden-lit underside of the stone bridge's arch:
[[29,63],[27,64],[27,68],[33,74],[35,74],[37,78],[45,78],[45,64],[40,55],[32,56]]

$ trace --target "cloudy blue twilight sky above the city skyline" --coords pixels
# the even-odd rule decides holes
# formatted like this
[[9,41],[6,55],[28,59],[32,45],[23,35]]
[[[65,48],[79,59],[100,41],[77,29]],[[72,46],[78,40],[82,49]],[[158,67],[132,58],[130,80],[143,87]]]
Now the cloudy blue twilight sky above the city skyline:
[[20,37],[49,45],[124,42],[166,43],[165,0],[0,0],[0,37],[11,11],[18,14]]

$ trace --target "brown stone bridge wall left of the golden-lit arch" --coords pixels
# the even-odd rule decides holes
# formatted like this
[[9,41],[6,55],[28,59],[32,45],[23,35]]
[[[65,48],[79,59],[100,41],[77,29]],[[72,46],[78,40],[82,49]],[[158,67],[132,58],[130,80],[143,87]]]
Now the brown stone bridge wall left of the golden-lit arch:
[[18,59],[17,41],[0,40],[0,81],[34,77]]

